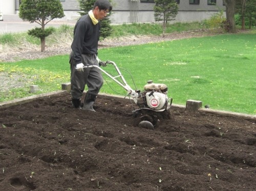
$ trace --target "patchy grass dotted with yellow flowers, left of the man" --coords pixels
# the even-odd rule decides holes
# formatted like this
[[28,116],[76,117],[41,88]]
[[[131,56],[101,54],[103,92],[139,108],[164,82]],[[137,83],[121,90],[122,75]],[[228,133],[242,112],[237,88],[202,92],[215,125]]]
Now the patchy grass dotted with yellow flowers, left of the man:
[[[15,88],[0,91],[0,102],[31,96],[30,85],[39,86],[37,94],[61,89],[61,84],[70,77],[67,67],[59,64],[61,59],[62,63],[67,63],[68,56],[0,64],[0,71],[7,73],[9,81],[15,83]],[[16,88],[17,84],[20,87]]]

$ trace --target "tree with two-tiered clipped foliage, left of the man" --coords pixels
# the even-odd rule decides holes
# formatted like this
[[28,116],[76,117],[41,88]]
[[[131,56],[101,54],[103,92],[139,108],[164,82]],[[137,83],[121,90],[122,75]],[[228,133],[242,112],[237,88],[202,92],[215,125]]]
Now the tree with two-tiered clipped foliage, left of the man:
[[54,18],[65,16],[59,0],[22,0],[19,6],[19,17],[30,22],[38,23],[41,28],[28,31],[29,35],[40,38],[41,52],[45,51],[46,37],[52,34],[53,28],[45,28]]

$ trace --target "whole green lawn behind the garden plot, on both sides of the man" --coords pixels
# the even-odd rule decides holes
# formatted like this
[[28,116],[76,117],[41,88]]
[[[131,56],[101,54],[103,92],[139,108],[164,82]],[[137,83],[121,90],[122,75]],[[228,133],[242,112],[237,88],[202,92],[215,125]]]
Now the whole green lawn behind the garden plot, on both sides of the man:
[[[143,30],[149,30],[146,29],[147,24],[141,25],[145,27]],[[176,30],[182,28],[178,26]],[[126,28],[125,25],[122,27]],[[136,31],[129,30],[130,34]],[[255,114],[255,37],[256,32],[252,30],[250,33],[113,47],[100,49],[99,57],[101,60],[115,61],[120,69],[130,71],[133,78],[126,70],[121,70],[134,89],[142,90],[147,80],[166,84],[168,96],[174,99],[175,104],[184,105],[186,100],[192,99],[200,100],[212,109]],[[24,87],[0,91],[0,101],[32,95],[29,86],[33,84],[39,86],[38,93],[61,89],[61,83],[70,81],[68,60],[69,55],[64,55],[0,63],[0,71],[10,78],[14,74],[24,76],[19,79],[20,83],[24,82]],[[114,73],[111,66],[103,69]],[[111,79],[104,78],[106,81],[101,92],[126,93]]]

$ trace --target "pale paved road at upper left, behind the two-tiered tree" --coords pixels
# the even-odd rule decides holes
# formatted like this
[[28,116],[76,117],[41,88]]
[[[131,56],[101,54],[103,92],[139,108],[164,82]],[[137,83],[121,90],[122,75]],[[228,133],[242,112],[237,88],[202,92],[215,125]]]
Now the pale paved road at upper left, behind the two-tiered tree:
[[[61,25],[75,26],[75,20],[73,21],[50,21],[47,23],[47,27],[59,27]],[[27,32],[35,27],[41,27],[38,23],[30,23],[28,21],[0,21],[0,34],[4,33],[22,33]]]

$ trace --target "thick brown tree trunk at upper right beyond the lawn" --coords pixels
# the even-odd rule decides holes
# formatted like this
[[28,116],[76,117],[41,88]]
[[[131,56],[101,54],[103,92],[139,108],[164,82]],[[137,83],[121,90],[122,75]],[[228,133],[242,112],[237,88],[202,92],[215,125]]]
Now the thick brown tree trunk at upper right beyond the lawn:
[[224,2],[226,6],[227,31],[229,33],[236,33],[236,24],[234,23],[236,0],[224,0]]

